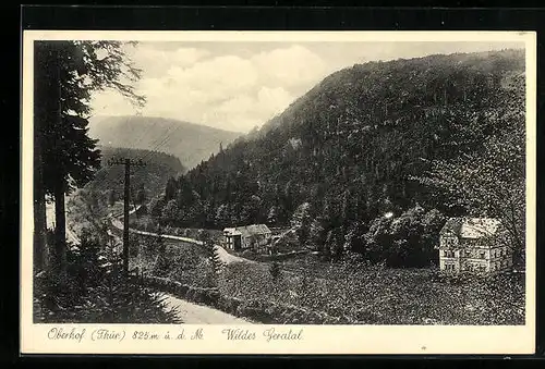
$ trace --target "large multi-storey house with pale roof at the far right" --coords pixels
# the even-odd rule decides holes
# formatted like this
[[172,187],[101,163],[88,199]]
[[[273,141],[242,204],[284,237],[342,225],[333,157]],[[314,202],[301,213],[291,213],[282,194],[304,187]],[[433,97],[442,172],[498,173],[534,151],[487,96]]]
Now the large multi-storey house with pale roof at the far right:
[[512,267],[501,222],[492,218],[450,218],[439,233],[440,270],[497,273]]

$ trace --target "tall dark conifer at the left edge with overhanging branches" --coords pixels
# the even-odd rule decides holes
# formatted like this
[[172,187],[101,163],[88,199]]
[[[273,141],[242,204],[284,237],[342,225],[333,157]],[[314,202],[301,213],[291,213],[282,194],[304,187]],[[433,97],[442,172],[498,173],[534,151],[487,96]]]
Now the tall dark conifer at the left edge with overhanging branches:
[[[122,42],[35,42],[35,253],[44,254],[45,197],[55,198],[56,242],[51,267],[65,265],[64,196],[85,185],[100,165],[88,137],[92,93],[113,88],[143,104],[133,83],[141,71],[126,60]],[[43,260],[38,259],[41,269]]]

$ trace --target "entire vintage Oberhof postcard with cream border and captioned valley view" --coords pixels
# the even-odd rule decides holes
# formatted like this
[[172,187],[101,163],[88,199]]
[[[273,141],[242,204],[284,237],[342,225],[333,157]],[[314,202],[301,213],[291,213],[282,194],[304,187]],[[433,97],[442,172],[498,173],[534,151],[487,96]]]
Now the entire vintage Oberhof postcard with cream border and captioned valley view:
[[535,33],[23,44],[23,354],[534,353]]

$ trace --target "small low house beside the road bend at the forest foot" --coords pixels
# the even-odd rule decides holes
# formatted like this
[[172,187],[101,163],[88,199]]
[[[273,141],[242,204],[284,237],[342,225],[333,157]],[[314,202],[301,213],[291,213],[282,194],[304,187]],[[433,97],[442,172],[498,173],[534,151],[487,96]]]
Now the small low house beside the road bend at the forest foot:
[[270,244],[271,232],[265,224],[226,227],[225,246],[231,250],[259,250]]

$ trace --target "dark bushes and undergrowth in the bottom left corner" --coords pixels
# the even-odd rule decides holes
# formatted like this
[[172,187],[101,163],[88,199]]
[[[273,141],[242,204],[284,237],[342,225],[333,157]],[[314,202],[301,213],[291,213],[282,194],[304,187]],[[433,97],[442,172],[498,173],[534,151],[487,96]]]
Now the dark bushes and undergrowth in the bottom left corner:
[[[177,323],[177,311],[137,279],[125,279],[121,260],[102,253],[98,238],[82,237],[59,275],[35,278],[35,321],[46,323]],[[162,281],[154,281],[161,284]]]

